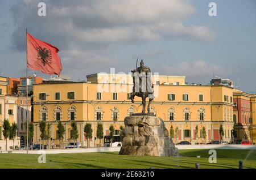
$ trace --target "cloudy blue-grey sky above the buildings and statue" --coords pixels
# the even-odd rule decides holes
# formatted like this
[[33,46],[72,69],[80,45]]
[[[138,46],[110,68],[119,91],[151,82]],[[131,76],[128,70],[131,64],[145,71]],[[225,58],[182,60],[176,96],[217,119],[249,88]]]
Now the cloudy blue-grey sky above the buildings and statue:
[[[27,28],[61,50],[61,75],[74,81],[112,67],[128,73],[139,58],[153,73],[200,84],[230,78],[256,93],[254,0],[44,0],[46,16],[39,2],[1,0],[0,76],[26,76]],[[217,16],[209,16],[210,2]]]

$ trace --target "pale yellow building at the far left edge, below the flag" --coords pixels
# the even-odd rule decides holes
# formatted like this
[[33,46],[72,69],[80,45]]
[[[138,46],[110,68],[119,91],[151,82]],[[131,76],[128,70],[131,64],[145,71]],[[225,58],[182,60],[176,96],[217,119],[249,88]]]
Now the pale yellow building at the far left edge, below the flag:
[[[2,91],[1,91],[2,89]],[[15,122],[18,125],[18,136],[15,140],[15,147],[19,147],[24,142],[26,136],[26,107],[27,99],[24,96],[6,95],[7,78],[0,77],[0,149],[5,149],[5,140],[3,137],[3,121],[8,119],[10,125]],[[31,121],[31,105],[28,102],[28,120]],[[13,149],[13,140],[7,141],[7,150]]]

